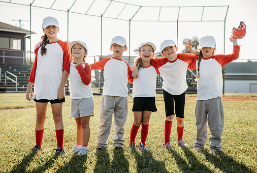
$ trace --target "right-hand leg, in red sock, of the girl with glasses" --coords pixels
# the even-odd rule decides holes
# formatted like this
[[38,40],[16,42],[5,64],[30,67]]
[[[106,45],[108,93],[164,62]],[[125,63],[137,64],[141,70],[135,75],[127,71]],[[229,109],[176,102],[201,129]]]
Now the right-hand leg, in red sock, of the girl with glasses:
[[146,142],[146,138],[148,136],[148,130],[149,130],[149,120],[151,116],[152,111],[144,110],[143,111],[143,118],[142,118],[142,128],[141,128],[141,142]]

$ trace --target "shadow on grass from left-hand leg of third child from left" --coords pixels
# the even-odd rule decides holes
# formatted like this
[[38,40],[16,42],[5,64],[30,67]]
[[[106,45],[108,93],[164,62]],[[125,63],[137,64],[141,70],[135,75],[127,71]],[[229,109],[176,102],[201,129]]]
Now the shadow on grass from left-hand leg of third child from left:
[[106,150],[96,151],[97,163],[94,167],[94,172],[111,172],[110,156]]

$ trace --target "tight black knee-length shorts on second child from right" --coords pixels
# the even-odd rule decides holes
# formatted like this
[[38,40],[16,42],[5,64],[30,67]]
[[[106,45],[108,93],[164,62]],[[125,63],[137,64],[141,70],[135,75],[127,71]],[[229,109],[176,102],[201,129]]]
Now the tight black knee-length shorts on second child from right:
[[175,112],[176,117],[181,119],[184,117],[184,109],[185,109],[185,92],[180,95],[172,95],[167,91],[163,90],[164,95],[164,103],[165,103],[165,112],[166,117],[174,115],[174,102],[175,102]]

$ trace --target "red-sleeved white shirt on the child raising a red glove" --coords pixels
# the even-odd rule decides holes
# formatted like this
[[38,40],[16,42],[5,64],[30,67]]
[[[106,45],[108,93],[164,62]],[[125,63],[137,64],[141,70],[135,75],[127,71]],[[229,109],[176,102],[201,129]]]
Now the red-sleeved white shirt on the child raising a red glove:
[[[197,100],[222,98],[222,66],[239,57],[240,46],[233,46],[232,54],[217,54],[208,58],[202,57],[197,82]],[[198,57],[189,64],[189,69],[197,69]]]

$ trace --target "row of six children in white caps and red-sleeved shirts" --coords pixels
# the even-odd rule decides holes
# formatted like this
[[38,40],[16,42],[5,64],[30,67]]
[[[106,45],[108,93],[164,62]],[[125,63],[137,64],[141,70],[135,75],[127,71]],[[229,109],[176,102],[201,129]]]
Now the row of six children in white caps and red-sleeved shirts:
[[[197,104],[196,151],[205,148],[207,140],[207,122],[211,131],[210,153],[221,150],[221,134],[224,126],[222,107],[222,66],[238,59],[240,46],[236,39],[233,42],[232,54],[214,55],[216,48],[212,36],[204,36],[200,40],[199,50],[192,49],[192,43],[186,46],[191,53],[177,53],[178,47],[173,40],[164,40],[160,44],[160,51],[164,57],[154,58],[156,46],[151,42],[139,46],[139,57],[135,65],[122,60],[122,54],[127,50],[126,40],[116,36],[112,39],[110,50],[113,57],[105,57],[99,62],[88,64],[85,61],[87,46],[82,41],[70,44],[57,38],[58,21],[54,17],[46,17],[42,24],[45,33],[42,41],[35,47],[35,63],[31,70],[26,91],[26,99],[33,95],[31,86],[34,84],[36,94],[36,146],[31,151],[42,150],[44,123],[48,102],[51,103],[55,132],[57,139],[56,155],[65,154],[63,149],[62,104],[65,102],[65,84],[69,77],[71,95],[71,117],[77,125],[77,144],[71,150],[77,155],[89,152],[90,137],[89,120],[94,114],[93,95],[90,86],[91,70],[104,70],[104,88],[100,107],[100,129],[98,133],[97,149],[108,147],[107,139],[110,134],[112,115],[114,115],[115,136],[113,146],[115,150],[124,147],[124,124],[127,118],[127,82],[133,83],[134,121],[130,131],[129,148],[138,150],[135,139],[141,126],[140,150],[147,150],[146,138],[149,129],[151,112],[157,111],[155,106],[156,75],[160,74],[164,80],[163,95],[165,102],[166,120],[164,129],[165,142],[163,147],[173,150],[170,143],[172,122],[176,113],[177,141],[180,147],[188,146],[183,140],[184,107],[186,70],[198,69],[197,74]],[[133,71],[133,72],[132,72]],[[29,96],[31,95],[31,97]],[[174,111],[175,108],[175,111]]]

